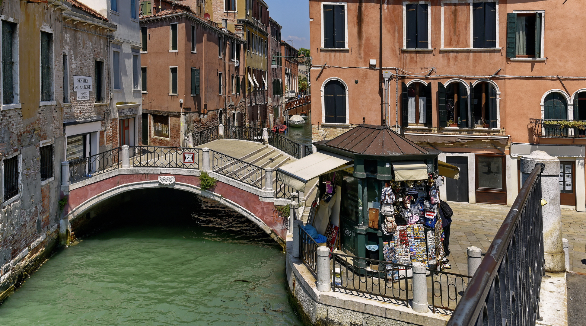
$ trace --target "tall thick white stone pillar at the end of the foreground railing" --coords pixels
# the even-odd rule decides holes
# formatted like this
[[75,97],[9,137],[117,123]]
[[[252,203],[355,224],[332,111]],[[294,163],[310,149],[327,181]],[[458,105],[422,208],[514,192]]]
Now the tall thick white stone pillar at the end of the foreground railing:
[[521,179],[523,183],[535,168],[543,163],[541,173],[541,198],[547,204],[543,212],[543,256],[545,270],[550,272],[565,271],[564,248],[561,242],[561,206],[560,206],[560,160],[544,151],[534,151],[521,158]]

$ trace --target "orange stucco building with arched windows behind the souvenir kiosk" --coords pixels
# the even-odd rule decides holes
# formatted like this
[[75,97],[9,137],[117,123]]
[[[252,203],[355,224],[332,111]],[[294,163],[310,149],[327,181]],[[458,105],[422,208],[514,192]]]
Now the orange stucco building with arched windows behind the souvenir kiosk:
[[309,1],[314,141],[394,126],[461,168],[444,200],[511,205],[519,158],[560,158],[562,205],[586,210],[584,4]]

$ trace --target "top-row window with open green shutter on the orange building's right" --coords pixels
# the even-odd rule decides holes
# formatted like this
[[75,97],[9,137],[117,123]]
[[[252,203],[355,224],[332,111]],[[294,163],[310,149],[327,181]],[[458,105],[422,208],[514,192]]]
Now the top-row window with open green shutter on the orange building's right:
[[507,57],[543,57],[543,13],[507,13]]

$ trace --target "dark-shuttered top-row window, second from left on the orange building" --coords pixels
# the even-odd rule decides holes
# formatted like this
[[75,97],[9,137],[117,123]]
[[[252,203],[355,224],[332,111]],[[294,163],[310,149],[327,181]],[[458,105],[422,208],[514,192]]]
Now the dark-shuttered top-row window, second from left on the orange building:
[[428,5],[405,5],[405,46],[407,49],[428,49]]

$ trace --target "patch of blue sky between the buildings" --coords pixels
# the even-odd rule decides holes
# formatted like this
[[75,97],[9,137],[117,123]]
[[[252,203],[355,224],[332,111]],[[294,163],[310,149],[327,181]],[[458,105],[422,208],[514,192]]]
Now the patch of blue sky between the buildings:
[[271,18],[281,29],[281,39],[295,49],[309,49],[309,1],[308,0],[264,0]]

